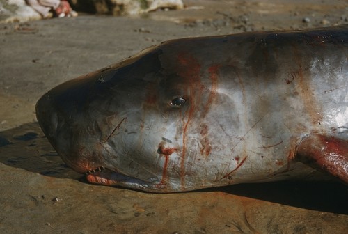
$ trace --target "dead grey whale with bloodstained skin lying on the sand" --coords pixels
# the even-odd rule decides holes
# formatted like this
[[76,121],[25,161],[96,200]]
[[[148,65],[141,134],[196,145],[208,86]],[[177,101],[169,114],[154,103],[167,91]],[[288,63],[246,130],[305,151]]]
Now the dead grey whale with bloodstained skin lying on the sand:
[[348,183],[347,80],[348,26],[183,38],[53,88],[36,112],[90,182]]

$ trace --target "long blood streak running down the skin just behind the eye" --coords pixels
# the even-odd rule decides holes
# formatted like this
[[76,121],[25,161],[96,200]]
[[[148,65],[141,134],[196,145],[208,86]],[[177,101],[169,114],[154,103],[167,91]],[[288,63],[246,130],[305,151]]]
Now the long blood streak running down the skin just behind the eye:
[[[177,56],[177,60],[179,62],[180,68],[177,69],[177,75],[185,78],[189,84],[189,110],[187,115],[186,123],[184,122],[183,136],[182,136],[182,159],[180,162],[180,185],[184,188],[185,185],[185,161],[186,161],[186,141],[187,141],[187,130],[189,127],[189,123],[191,118],[193,117],[193,113],[196,109],[196,102],[199,102],[200,93],[202,93],[202,88],[200,84],[200,64],[198,60],[195,59],[190,54],[180,53]],[[198,88],[197,88],[198,87]]]

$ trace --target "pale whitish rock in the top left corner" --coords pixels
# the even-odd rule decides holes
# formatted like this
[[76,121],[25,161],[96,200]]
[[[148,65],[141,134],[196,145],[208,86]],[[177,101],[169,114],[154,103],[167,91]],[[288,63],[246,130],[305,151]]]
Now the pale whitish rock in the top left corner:
[[0,0],[0,23],[40,20],[41,15],[25,0]]

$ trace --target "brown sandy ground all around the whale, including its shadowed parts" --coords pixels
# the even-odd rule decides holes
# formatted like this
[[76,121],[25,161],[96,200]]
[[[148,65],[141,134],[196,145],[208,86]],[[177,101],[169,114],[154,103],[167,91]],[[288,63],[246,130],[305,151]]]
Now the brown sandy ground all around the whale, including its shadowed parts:
[[0,24],[0,233],[345,233],[348,189],[321,182],[148,194],[89,185],[35,119],[40,95],[164,40],[348,23],[345,1],[187,1],[142,17]]

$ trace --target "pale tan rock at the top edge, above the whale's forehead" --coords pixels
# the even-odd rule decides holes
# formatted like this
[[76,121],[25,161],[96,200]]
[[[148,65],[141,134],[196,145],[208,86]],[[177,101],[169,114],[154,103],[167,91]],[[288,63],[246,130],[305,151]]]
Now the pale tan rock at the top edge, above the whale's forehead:
[[137,15],[160,8],[182,9],[182,0],[71,0],[74,10],[110,15]]

